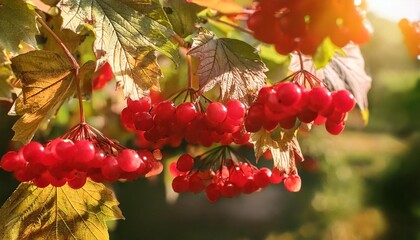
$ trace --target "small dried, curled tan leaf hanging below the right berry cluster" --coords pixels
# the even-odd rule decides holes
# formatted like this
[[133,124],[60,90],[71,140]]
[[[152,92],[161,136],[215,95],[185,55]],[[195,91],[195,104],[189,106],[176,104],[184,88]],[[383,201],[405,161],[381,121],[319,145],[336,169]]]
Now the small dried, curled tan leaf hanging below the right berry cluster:
[[265,151],[270,150],[274,166],[281,172],[296,171],[295,155],[302,157],[299,142],[296,138],[296,129],[268,132],[261,128],[251,134],[250,143],[254,144],[255,158],[258,160]]

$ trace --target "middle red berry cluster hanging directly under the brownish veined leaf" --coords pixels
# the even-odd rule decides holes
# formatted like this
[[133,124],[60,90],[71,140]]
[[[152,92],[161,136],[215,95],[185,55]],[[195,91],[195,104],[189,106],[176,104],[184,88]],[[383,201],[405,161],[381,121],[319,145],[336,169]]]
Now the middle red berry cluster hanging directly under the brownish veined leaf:
[[243,127],[245,112],[245,106],[237,100],[230,100],[226,105],[212,102],[202,113],[191,102],[175,107],[172,101],[162,101],[152,107],[150,98],[143,97],[127,100],[121,122],[151,143],[178,146],[185,139],[208,147],[213,143],[247,143],[249,134]]

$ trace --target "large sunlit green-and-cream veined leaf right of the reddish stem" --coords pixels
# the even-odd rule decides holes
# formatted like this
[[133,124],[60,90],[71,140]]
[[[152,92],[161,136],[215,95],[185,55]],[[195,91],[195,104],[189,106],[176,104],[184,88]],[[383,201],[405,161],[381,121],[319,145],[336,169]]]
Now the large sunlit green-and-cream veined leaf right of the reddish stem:
[[155,56],[148,54],[150,49],[175,62],[179,56],[177,46],[170,41],[174,33],[169,21],[164,19],[166,16],[160,4],[151,0],[122,2],[124,4],[117,0],[62,0],[57,6],[62,9],[64,28],[77,31],[84,22],[94,26],[97,66],[108,61],[118,85],[124,88],[125,97],[138,99],[148,90],[144,86],[150,85],[147,84],[150,79],[142,78],[144,74],[139,73],[138,57],[147,56],[149,59],[143,60],[154,61]]

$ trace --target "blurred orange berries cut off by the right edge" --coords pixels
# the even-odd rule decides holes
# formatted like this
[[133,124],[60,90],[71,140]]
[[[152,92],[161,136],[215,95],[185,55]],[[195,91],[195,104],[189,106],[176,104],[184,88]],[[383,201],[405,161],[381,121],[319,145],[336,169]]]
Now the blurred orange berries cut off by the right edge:
[[403,18],[398,23],[404,35],[404,42],[413,58],[420,58],[420,21],[409,22]]

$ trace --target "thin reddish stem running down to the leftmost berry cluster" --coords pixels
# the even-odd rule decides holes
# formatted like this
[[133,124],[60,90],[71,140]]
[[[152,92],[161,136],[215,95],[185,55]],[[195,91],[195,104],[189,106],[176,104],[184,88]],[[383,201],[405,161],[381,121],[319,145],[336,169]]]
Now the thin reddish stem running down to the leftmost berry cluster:
[[47,25],[47,23],[42,19],[40,15],[36,16],[36,20],[42,25],[42,27],[45,28],[45,30],[48,31],[48,33],[51,34],[51,36],[54,38],[54,40],[60,45],[61,49],[63,49],[64,53],[66,54],[69,61],[73,64],[74,69],[74,75],[76,80],[76,91],[77,91],[77,98],[79,100],[79,110],[80,110],[80,122],[85,122],[85,114],[83,111],[83,99],[82,94],[80,90],[80,78],[79,78],[79,69],[80,66],[77,63],[76,59],[73,57],[73,55],[70,53],[69,49],[64,45],[64,42],[60,39],[57,34],[54,33],[54,31]]

